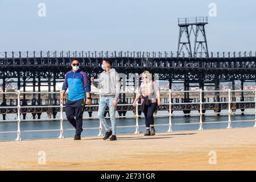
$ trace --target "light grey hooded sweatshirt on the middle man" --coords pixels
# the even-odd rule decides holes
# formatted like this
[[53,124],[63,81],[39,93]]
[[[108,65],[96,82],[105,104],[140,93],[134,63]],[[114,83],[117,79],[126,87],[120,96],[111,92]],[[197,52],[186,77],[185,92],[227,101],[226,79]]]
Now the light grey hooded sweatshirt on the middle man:
[[114,68],[110,69],[110,72],[103,71],[100,74],[99,81],[92,82],[93,86],[101,89],[101,96],[114,97],[118,100],[120,93],[120,78]]

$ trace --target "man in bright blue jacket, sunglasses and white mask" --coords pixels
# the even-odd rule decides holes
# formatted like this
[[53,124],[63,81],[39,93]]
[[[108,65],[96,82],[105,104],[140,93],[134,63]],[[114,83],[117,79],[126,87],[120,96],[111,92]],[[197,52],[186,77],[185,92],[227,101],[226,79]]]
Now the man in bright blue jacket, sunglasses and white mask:
[[79,68],[79,60],[73,59],[72,70],[67,72],[62,86],[60,101],[68,89],[68,101],[66,103],[66,116],[68,121],[75,127],[76,135],[74,140],[81,139],[82,114],[84,113],[85,97],[88,105],[91,104],[90,84],[86,74]]

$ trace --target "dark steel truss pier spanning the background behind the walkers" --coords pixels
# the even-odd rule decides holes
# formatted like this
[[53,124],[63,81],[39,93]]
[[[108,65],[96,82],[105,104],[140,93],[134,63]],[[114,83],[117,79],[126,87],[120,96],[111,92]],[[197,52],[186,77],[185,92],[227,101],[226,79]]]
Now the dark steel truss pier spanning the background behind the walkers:
[[[0,82],[2,81],[2,91],[6,92],[6,85],[10,83],[17,84],[17,89],[22,88],[26,92],[28,86],[32,86],[33,91],[42,86],[48,86],[48,92],[56,92],[57,82],[63,82],[64,75],[71,69],[70,62],[76,57],[81,62],[81,69],[88,77],[97,77],[102,72],[101,62],[103,57],[109,57],[113,60],[113,68],[119,73],[128,75],[129,73],[142,73],[148,70],[151,73],[157,73],[159,80],[169,81],[169,89],[175,83],[182,83],[184,90],[189,90],[195,84],[202,90],[205,86],[213,86],[214,90],[220,90],[220,82],[231,82],[232,90],[235,89],[235,81],[241,81],[241,90],[245,82],[256,81],[256,52],[204,52],[196,53],[191,57],[188,53],[180,52],[135,52],[135,51],[25,51],[25,52],[0,52]],[[154,74],[152,74],[154,76]],[[154,78],[154,77],[153,77]],[[122,82],[125,84],[125,82]],[[135,84],[135,82],[134,82]],[[52,89],[53,88],[53,89]],[[131,97],[131,96],[130,96]],[[184,93],[183,100],[178,102],[192,102],[189,92]],[[121,94],[120,104],[129,104],[133,100],[126,98],[126,93]],[[204,98],[204,93],[203,93]],[[97,104],[96,98],[93,103]],[[232,92],[232,99],[237,100]],[[246,102],[246,96],[241,92],[240,101]],[[255,98],[253,98],[254,100]],[[214,93],[213,100],[220,102],[220,93]],[[28,100],[26,94],[23,94],[20,100],[22,105],[58,105],[59,96],[48,94],[44,99],[41,94],[33,94],[32,99]],[[205,100],[203,99],[203,102]],[[165,101],[163,101],[165,102]],[[1,105],[16,105],[15,101],[6,98],[2,94]],[[132,110],[131,106],[119,108],[119,114],[125,114],[127,110]],[[212,109],[216,113],[225,109],[225,104],[213,104],[204,108]],[[236,105],[236,109],[254,108],[252,104],[243,103]],[[233,108],[233,109],[234,109]],[[90,108],[93,111],[97,107]],[[159,109],[168,110],[166,106]],[[189,113],[191,110],[198,110],[196,106],[176,106],[176,109]],[[86,109],[90,112],[89,108]],[[175,110],[175,108],[174,108]],[[31,111],[38,116],[43,110]],[[57,111],[57,110],[56,110]],[[56,113],[53,111],[53,113]],[[53,115],[54,116],[54,115]],[[40,116],[39,116],[40,117]]]

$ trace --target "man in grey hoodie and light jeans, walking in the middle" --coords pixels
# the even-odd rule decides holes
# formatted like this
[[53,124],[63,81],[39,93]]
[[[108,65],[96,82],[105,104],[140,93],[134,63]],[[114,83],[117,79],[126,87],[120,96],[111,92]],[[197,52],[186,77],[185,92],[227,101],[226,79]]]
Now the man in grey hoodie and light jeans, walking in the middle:
[[[100,74],[99,81],[94,81],[94,77],[90,78],[90,81],[96,88],[101,90],[98,117],[106,130],[106,134],[103,139],[106,140],[112,135],[110,140],[117,140],[115,109],[117,107],[117,101],[120,93],[120,78],[117,71],[112,68],[112,60],[104,58],[101,68],[104,69],[104,71]],[[110,127],[106,123],[106,119],[104,117],[105,109],[107,106],[109,107],[109,115],[113,131],[110,130]]]

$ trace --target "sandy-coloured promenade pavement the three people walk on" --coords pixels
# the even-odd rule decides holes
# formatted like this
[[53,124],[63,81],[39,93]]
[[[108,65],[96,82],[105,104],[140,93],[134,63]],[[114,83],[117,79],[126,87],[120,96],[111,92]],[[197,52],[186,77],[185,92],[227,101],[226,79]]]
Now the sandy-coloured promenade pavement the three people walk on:
[[0,142],[0,169],[256,170],[256,127]]

